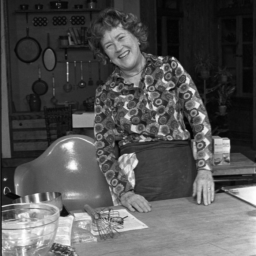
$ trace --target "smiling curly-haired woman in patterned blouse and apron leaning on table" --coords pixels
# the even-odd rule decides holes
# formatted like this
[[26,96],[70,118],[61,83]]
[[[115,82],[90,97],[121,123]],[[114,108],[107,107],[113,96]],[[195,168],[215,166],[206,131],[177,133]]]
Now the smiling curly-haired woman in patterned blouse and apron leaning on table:
[[[106,9],[87,34],[90,49],[116,66],[98,86],[94,107],[96,157],[115,202],[148,212],[150,201],[193,193],[197,203],[211,204],[211,126],[190,75],[173,56],[143,52],[147,28],[133,14]],[[184,115],[198,145],[197,166]]]

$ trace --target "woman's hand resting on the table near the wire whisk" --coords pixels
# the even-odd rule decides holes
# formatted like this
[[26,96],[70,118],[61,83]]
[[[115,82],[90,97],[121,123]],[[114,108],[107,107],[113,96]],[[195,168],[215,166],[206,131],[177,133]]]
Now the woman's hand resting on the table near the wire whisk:
[[121,204],[128,208],[129,211],[149,212],[152,205],[141,195],[135,194],[132,191],[127,191],[120,197]]

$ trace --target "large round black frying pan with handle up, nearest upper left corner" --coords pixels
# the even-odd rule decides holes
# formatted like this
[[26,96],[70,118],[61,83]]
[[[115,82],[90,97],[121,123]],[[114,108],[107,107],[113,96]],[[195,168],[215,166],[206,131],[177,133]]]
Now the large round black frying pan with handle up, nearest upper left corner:
[[27,27],[27,36],[19,39],[17,42],[14,52],[20,61],[25,63],[31,63],[36,61],[41,52],[42,48],[37,40],[29,37],[29,28]]

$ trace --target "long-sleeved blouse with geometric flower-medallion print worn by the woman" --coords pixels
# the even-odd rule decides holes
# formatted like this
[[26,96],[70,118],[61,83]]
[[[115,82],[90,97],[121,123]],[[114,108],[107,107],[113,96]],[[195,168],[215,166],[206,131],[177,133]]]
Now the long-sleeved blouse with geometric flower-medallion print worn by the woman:
[[119,146],[134,142],[189,140],[183,115],[196,141],[197,170],[212,171],[211,126],[195,83],[175,57],[146,53],[143,56],[146,65],[139,84],[125,82],[116,67],[96,90],[96,157],[118,197],[132,186],[118,175],[121,169],[114,156],[115,135],[121,138]]

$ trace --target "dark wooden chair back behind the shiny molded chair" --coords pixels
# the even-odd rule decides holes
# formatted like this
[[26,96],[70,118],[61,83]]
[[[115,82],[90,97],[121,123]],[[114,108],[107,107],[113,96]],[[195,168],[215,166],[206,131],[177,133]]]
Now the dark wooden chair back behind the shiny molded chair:
[[44,114],[48,146],[53,140],[73,134],[71,105],[55,108],[44,106]]

